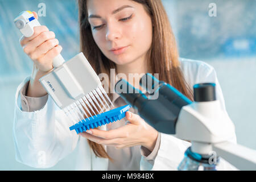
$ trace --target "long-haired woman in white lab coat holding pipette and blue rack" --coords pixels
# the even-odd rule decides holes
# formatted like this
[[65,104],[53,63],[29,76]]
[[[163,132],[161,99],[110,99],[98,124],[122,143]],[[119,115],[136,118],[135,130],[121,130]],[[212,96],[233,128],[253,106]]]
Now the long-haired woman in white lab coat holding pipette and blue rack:
[[[215,82],[217,98],[225,110],[214,69],[202,61],[179,60],[160,0],[79,1],[79,20],[81,51],[98,74],[110,75],[111,68],[126,76],[159,73],[160,80],[191,100],[194,84]],[[69,131],[71,121],[38,81],[51,71],[53,57],[61,52],[55,34],[45,26],[35,27],[35,34],[22,38],[20,44],[34,61],[34,69],[16,92],[14,138],[19,162],[52,167],[77,146],[76,169],[177,169],[190,143],[158,133],[134,109],[122,121],[101,129],[80,135]],[[115,107],[125,105],[117,94],[110,94],[110,98]]]

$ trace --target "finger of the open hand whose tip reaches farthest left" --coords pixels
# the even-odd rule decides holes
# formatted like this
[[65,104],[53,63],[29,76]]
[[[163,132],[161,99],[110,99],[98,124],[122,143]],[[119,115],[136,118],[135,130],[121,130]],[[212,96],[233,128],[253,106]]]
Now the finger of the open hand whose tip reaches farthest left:
[[123,144],[125,142],[125,140],[123,140],[122,138],[114,138],[114,139],[104,139],[101,137],[96,137],[94,135],[91,135],[89,133],[86,132],[82,132],[80,133],[80,135],[82,137],[85,137],[89,140],[91,140],[92,142],[96,142],[98,144],[103,144],[103,145],[117,145],[117,144]]

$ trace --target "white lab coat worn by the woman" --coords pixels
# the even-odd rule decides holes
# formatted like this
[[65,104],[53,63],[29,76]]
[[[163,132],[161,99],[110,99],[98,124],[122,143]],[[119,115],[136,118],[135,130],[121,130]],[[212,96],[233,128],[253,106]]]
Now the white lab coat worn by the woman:
[[[225,109],[224,98],[213,67],[203,61],[180,59],[185,80],[191,86],[199,82],[215,82],[217,99]],[[107,170],[108,159],[97,158],[85,138],[69,131],[73,125],[62,110],[48,97],[46,105],[38,111],[22,111],[20,89],[30,77],[18,86],[15,94],[14,143],[16,160],[35,168],[49,168],[78,148],[77,170]],[[106,130],[102,126],[101,130]],[[232,140],[236,143],[236,135]],[[160,147],[154,163],[141,158],[141,170],[176,170],[191,143],[161,133]],[[105,147],[106,148],[106,147]],[[236,169],[224,159],[220,169]]]

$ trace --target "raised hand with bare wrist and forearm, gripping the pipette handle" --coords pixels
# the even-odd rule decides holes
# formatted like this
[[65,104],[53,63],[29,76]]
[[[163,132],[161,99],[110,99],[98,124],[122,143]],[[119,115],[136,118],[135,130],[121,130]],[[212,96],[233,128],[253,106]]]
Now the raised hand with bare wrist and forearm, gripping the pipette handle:
[[[38,15],[34,11],[32,13],[38,19]],[[53,59],[60,54],[62,47],[59,46],[59,41],[55,39],[54,32],[49,31],[46,26],[34,27],[34,34],[31,37],[22,36],[20,38],[20,45],[34,62],[26,96],[45,96],[47,92],[39,82],[39,78],[51,71]]]

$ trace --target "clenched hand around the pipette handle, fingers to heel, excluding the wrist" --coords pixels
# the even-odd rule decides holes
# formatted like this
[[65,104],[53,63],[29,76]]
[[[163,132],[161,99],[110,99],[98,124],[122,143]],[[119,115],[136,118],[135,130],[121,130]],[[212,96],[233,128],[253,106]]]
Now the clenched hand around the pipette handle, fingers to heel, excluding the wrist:
[[[34,11],[32,13],[38,19],[38,15]],[[47,73],[53,68],[53,58],[62,50],[59,40],[55,39],[54,32],[49,31],[46,26],[34,27],[34,34],[29,38],[23,35],[20,38],[20,45],[42,73]]]

